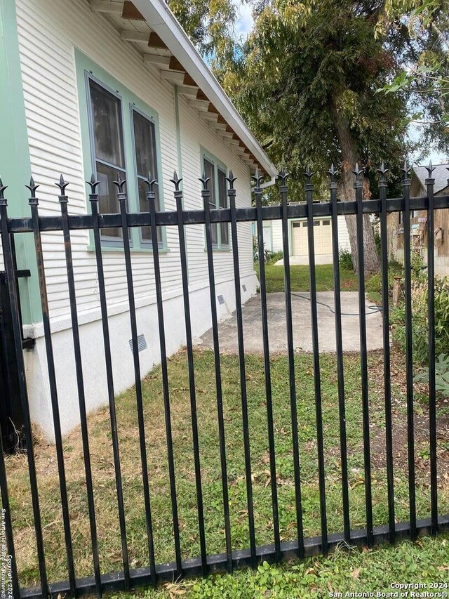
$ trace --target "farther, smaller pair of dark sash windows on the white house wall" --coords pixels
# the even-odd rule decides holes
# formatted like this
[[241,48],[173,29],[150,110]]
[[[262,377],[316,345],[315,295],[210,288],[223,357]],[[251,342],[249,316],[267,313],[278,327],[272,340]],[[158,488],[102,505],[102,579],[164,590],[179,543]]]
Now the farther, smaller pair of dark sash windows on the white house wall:
[[[210,178],[208,188],[210,191],[209,206],[211,210],[225,209],[228,207],[226,168],[212,157],[203,156],[203,171]],[[213,223],[210,225],[212,245],[215,249],[229,248],[229,223]]]

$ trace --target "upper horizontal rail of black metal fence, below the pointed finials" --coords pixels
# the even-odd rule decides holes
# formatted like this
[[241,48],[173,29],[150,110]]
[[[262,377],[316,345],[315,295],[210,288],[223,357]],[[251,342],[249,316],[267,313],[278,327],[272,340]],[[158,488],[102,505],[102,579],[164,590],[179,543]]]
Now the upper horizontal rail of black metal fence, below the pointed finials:
[[[429,199],[427,197],[410,198],[410,210],[427,210]],[[387,213],[403,211],[403,199],[391,198],[385,201]],[[449,195],[441,195],[434,198],[434,209],[448,209]],[[375,214],[380,213],[382,204],[380,199],[367,199],[363,201],[363,213]],[[356,214],[357,204],[354,201],[338,202],[337,214],[344,216],[346,214]],[[185,210],[182,211],[183,222],[185,225],[202,225],[206,223],[203,210]],[[332,216],[332,203],[329,201],[319,201],[313,204],[314,217]],[[281,220],[282,211],[280,204],[269,204],[262,206],[262,220]],[[307,204],[289,204],[288,219],[307,218]],[[120,214],[100,214],[100,228],[120,228]],[[236,220],[238,223],[246,223],[257,220],[255,207],[237,208]],[[145,227],[150,225],[149,212],[129,212],[128,227]],[[229,223],[231,222],[231,210],[213,209],[210,210],[211,223]],[[177,213],[176,211],[156,212],[157,226],[176,226]],[[93,228],[93,216],[91,214],[72,215],[69,216],[69,228],[71,230],[83,230]],[[62,230],[61,216],[40,216],[39,229],[41,231],[60,231]],[[8,218],[8,231],[10,233],[27,233],[32,232],[32,218]]]

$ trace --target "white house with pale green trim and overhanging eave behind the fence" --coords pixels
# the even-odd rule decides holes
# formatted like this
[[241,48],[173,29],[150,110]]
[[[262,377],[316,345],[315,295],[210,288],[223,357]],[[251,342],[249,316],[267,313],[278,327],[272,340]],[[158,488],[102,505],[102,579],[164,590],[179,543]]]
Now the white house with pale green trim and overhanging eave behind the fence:
[[[173,170],[183,178],[185,209],[202,209],[199,176],[213,179],[213,202],[227,206],[225,176],[237,176],[237,206],[250,206],[250,174],[258,166],[276,175],[257,143],[164,0],[2,0],[0,3],[0,172],[8,187],[8,215],[29,216],[27,183],[33,174],[41,216],[60,215],[55,181],[69,182],[71,214],[90,211],[86,180],[100,180],[100,211],[116,213],[112,185],[127,180],[130,211],[145,210],[142,177],[159,180],[161,211],[175,210]],[[324,225],[323,225],[324,227]],[[132,260],[142,374],[160,360],[150,232],[132,231]],[[15,235],[32,421],[53,437],[51,397],[32,235]],[[210,328],[203,225],[186,227],[194,336]],[[74,348],[62,232],[43,232],[46,285],[62,433],[79,422]],[[218,317],[235,308],[228,225],[213,231]],[[159,239],[168,354],[185,343],[177,230]],[[296,247],[296,246],[295,246]],[[107,403],[98,275],[93,239],[72,231],[83,374],[89,410]],[[255,294],[250,223],[239,224],[243,301]],[[109,329],[116,393],[134,382],[129,340],[123,240],[102,230]],[[145,345],[145,344],[144,344]]]

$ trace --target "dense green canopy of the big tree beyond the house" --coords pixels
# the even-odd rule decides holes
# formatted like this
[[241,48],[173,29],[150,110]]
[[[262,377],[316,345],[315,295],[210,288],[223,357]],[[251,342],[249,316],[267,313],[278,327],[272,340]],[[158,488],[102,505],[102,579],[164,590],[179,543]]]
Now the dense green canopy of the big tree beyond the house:
[[293,175],[292,187],[308,163],[319,184],[330,162],[348,170],[361,160],[373,172],[382,159],[402,162],[406,94],[375,90],[394,76],[406,40],[394,28],[375,38],[380,10],[376,2],[349,0],[255,3],[242,60],[222,82],[270,143],[270,157]]

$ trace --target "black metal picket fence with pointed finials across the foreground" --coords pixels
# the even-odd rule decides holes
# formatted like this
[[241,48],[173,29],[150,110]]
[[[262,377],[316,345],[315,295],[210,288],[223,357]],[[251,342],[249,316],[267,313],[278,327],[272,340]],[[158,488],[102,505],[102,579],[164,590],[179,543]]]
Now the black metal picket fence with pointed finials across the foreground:
[[[36,250],[36,262],[39,274],[39,289],[41,296],[41,307],[43,312],[43,329],[46,344],[46,357],[48,362],[48,380],[51,388],[51,403],[53,409],[53,423],[55,430],[55,449],[58,461],[58,475],[60,482],[60,501],[62,508],[62,519],[65,532],[65,548],[67,551],[68,575],[67,581],[58,584],[48,584],[46,557],[44,554],[43,531],[41,524],[41,505],[39,503],[39,491],[36,482],[36,464],[34,461],[32,423],[29,417],[29,403],[27,397],[27,381],[25,379],[24,359],[22,355],[22,327],[20,310],[18,308],[18,288],[15,284],[8,285],[9,300],[11,303],[11,352],[15,360],[18,372],[18,389],[22,414],[25,424],[25,442],[27,447],[27,463],[29,470],[29,482],[32,494],[32,508],[34,515],[34,532],[36,538],[37,557],[39,562],[40,587],[20,589],[18,569],[14,551],[14,529],[11,521],[11,512],[8,500],[8,481],[6,478],[6,467],[4,453],[0,455],[0,490],[4,508],[6,539],[8,553],[11,555],[11,597],[21,598],[47,598],[50,594],[68,593],[69,595],[83,595],[97,593],[102,595],[106,591],[130,589],[135,586],[156,584],[161,580],[177,579],[187,575],[206,575],[211,572],[227,570],[231,572],[234,567],[250,565],[255,567],[261,560],[282,560],[283,558],[304,558],[306,555],[316,553],[328,553],[342,541],[347,544],[373,544],[380,541],[390,541],[408,537],[415,539],[418,534],[436,534],[438,531],[448,529],[449,515],[438,517],[438,489],[437,489],[437,463],[436,463],[436,389],[435,389],[435,323],[434,323],[434,211],[436,209],[449,208],[449,196],[434,197],[434,179],[431,178],[432,167],[429,166],[429,178],[427,179],[427,197],[410,198],[410,179],[408,168],[403,169],[403,195],[401,198],[387,199],[386,169],[380,169],[380,199],[363,199],[363,183],[361,172],[358,168],[355,174],[355,201],[337,202],[337,183],[335,172],[330,171],[330,201],[314,202],[314,187],[311,183],[312,173],[308,170],[306,174],[306,197],[304,204],[288,203],[287,175],[283,171],[279,176],[279,192],[281,203],[279,205],[262,205],[261,178],[255,177],[255,206],[248,208],[236,208],[236,190],[234,189],[235,178],[229,173],[227,178],[229,208],[210,210],[210,191],[208,190],[208,179],[201,179],[203,191],[203,210],[186,211],[182,209],[182,191],[180,190],[180,179],[176,173],[173,178],[175,185],[176,211],[155,211],[155,180],[151,177],[147,181],[148,211],[146,213],[128,213],[126,208],[125,182],[120,179],[116,182],[120,204],[119,214],[100,214],[98,211],[99,183],[93,178],[89,185],[91,194],[89,200],[91,213],[83,216],[69,216],[66,195],[67,183],[62,179],[57,184],[60,187],[60,216],[39,216],[38,199],[36,197],[37,185],[31,180],[27,186],[31,197],[29,206],[31,217],[8,218],[7,202],[4,196],[6,187],[0,182],[0,225],[3,243],[3,256],[8,281],[14,282],[15,264],[13,259],[13,237],[22,233],[32,232]],[[427,264],[429,282],[429,447],[430,447],[430,489],[431,489],[431,513],[425,520],[417,520],[415,505],[415,448],[414,448],[414,419],[413,419],[413,356],[412,356],[412,308],[411,308],[411,266],[410,266],[410,211],[427,211]],[[388,289],[388,257],[387,257],[387,214],[391,212],[403,212],[404,227],[404,271],[405,271],[405,307],[406,307],[406,382],[407,382],[407,435],[408,435],[408,489],[410,518],[408,522],[397,523],[395,521],[394,501],[394,462],[393,445],[391,435],[391,381],[390,381],[390,339],[389,339],[389,289]],[[373,497],[371,480],[371,457],[370,457],[370,413],[368,397],[368,353],[366,345],[366,317],[365,313],[365,273],[363,265],[363,215],[377,214],[380,216],[380,235],[382,249],[382,321],[383,321],[383,357],[384,357],[384,407],[385,407],[385,430],[386,430],[386,459],[387,459],[387,502],[388,522],[384,525],[373,526]],[[344,392],[344,363],[342,346],[342,315],[340,301],[340,270],[339,270],[339,240],[337,216],[354,214],[357,223],[357,249],[358,249],[358,298],[360,305],[360,360],[361,360],[361,389],[363,405],[363,449],[364,449],[364,480],[366,492],[366,527],[363,529],[351,529],[349,519],[349,482],[347,466],[347,432],[345,418],[345,392]],[[326,519],[326,491],[325,491],[325,461],[323,451],[323,417],[321,413],[321,377],[320,377],[320,355],[318,336],[318,315],[316,308],[316,272],[314,251],[314,218],[328,216],[331,220],[332,243],[333,243],[333,276],[335,296],[335,334],[336,334],[336,358],[337,358],[337,388],[338,407],[340,416],[340,447],[341,447],[341,480],[342,480],[342,508],[344,530],[338,534],[328,534]],[[304,537],[302,524],[302,497],[301,497],[301,472],[300,472],[300,446],[298,440],[297,421],[297,389],[295,388],[295,361],[293,345],[293,319],[292,300],[290,289],[290,263],[289,263],[289,241],[288,226],[292,218],[307,219],[307,235],[309,250],[309,284],[311,294],[311,323],[313,341],[313,364],[314,364],[314,397],[316,408],[316,440],[318,453],[318,479],[319,479],[319,503],[321,515],[321,536]],[[290,390],[290,412],[291,412],[291,434],[293,441],[293,464],[295,485],[295,516],[296,516],[296,540],[281,541],[279,525],[279,501],[276,482],[276,455],[275,455],[275,431],[272,403],[272,381],[270,378],[270,356],[268,336],[268,310],[266,273],[264,265],[264,220],[281,220],[283,234],[283,259],[284,259],[284,281],[286,301],[286,332],[288,348],[288,371]],[[263,352],[264,352],[264,381],[267,407],[267,433],[269,447],[269,471],[272,499],[273,517],[273,544],[268,546],[257,546],[255,538],[255,513],[253,506],[253,483],[250,458],[250,428],[248,425],[248,405],[246,389],[246,356],[243,339],[243,317],[242,300],[240,290],[240,264],[239,247],[237,237],[237,223],[255,221],[257,223],[258,256],[260,268],[260,305],[262,315]],[[215,279],[213,263],[213,242],[211,237],[211,225],[213,223],[230,223],[231,244],[234,265],[235,299],[236,299],[236,323],[239,348],[240,389],[243,425],[243,446],[245,454],[246,472],[246,495],[248,503],[248,531],[250,546],[245,550],[233,551],[230,508],[228,494],[227,455],[225,443],[225,420],[223,414],[222,400],[222,374],[220,367],[220,339],[217,322],[217,305],[215,297]],[[196,414],[196,390],[194,371],[194,348],[192,343],[192,325],[189,305],[189,284],[187,270],[187,250],[185,244],[186,225],[205,225],[206,229],[206,251],[208,264],[208,277],[210,282],[210,308],[212,315],[213,347],[215,360],[215,383],[217,397],[217,418],[220,442],[220,465],[222,481],[222,505],[225,522],[225,553],[208,555],[205,533],[205,518],[203,513],[203,492],[201,485],[201,463],[199,433]],[[154,261],[154,277],[156,289],[156,304],[159,322],[159,343],[161,350],[161,374],[163,380],[163,403],[165,409],[166,439],[168,452],[168,473],[170,479],[170,494],[173,517],[174,561],[165,564],[156,564],[154,558],[154,536],[157,530],[152,522],[152,505],[149,488],[149,473],[146,452],[146,423],[142,400],[142,383],[140,372],[140,361],[138,352],[138,329],[136,325],[135,297],[133,287],[133,272],[131,264],[131,249],[128,229],[133,227],[150,227],[152,230],[152,258]],[[175,464],[173,459],[173,438],[170,419],[170,397],[167,369],[166,338],[163,317],[163,297],[161,291],[161,270],[159,266],[159,246],[157,228],[176,227],[179,237],[180,261],[182,273],[182,291],[185,312],[185,331],[187,338],[187,356],[189,367],[189,400],[191,407],[192,440],[194,449],[194,475],[196,481],[196,506],[199,527],[200,555],[198,558],[183,560],[180,545],[180,527],[177,514],[177,495],[175,481]],[[100,232],[102,228],[118,228],[122,232],[123,251],[126,264],[127,293],[129,302],[130,327],[133,343],[133,365],[135,371],[135,392],[138,410],[138,428],[140,439],[140,461],[142,466],[143,493],[145,499],[146,534],[148,561],[147,566],[138,570],[130,569],[128,558],[126,514],[123,503],[123,481],[121,480],[121,465],[119,452],[119,437],[117,435],[116,410],[114,404],[114,386],[112,374],[111,341],[109,338],[108,308],[105,291],[105,273],[103,270],[102,244]],[[74,283],[74,262],[72,258],[71,232],[74,230],[92,230],[95,244],[95,258],[98,270],[100,307],[102,315],[102,335],[104,341],[104,360],[107,372],[107,393],[109,397],[109,415],[112,432],[112,446],[114,455],[114,471],[116,483],[116,499],[119,511],[119,526],[121,535],[121,558],[123,569],[120,572],[104,574],[101,572],[100,557],[98,551],[97,525],[95,522],[95,501],[93,493],[93,480],[91,470],[91,459],[89,452],[88,419],[86,416],[85,386],[83,381],[83,369],[81,366],[81,344],[79,338],[78,312],[76,308],[76,292]],[[69,501],[67,498],[67,482],[65,473],[65,459],[62,449],[62,433],[60,426],[60,413],[58,407],[58,388],[55,377],[55,356],[53,355],[51,320],[48,312],[48,298],[46,291],[46,270],[43,261],[43,246],[41,232],[60,231],[65,240],[65,263],[67,267],[67,281],[69,287],[70,311],[72,318],[72,336],[74,344],[74,356],[76,362],[76,381],[79,397],[79,410],[81,417],[81,435],[83,442],[83,459],[86,474],[86,487],[88,497],[88,515],[91,532],[91,553],[93,560],[93,575],[84,579],[76,578],[74,565],[74,554],[72,550],[72,537],[69,518]],[[6,595],[8,596],[8,595]]]

